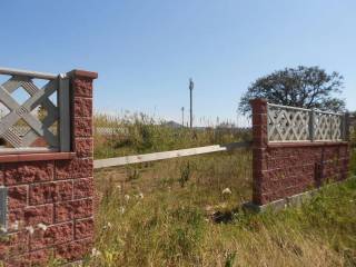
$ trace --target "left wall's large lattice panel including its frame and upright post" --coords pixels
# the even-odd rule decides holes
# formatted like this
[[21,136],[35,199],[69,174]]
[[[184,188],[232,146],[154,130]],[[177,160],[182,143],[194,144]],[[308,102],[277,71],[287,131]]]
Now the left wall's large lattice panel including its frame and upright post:
[[[26,148],[41,138],[48,148],[68,151],[68,78],[3,68],[0,68],[0,75],[10,76],[0,85],[0,138],[7,146]],[[36,79],[41,80],[41,87]],[[22,97],[19,98],[17,93],[22,93]]]

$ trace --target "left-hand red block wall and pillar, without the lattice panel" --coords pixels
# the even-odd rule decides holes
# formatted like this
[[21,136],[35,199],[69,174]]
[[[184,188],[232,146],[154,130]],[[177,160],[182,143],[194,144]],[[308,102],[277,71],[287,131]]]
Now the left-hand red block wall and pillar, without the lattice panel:
[[0,266],[46,266],[50,257],[77,261],[93,240],[92,81],[70,78],[71,150],[0,156],[0,186],[8,190],[7,233]]

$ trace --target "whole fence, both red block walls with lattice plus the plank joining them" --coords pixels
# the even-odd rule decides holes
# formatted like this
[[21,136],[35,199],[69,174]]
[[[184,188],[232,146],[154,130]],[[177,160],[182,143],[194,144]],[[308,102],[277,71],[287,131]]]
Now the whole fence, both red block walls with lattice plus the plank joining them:
[[[92,170],[249,147],[216,145],[93,162],[97,73],[1,69],[0,263],[31,266],[82,259],[93,239]],[[40,81],[40,82],[39,82]],[[41,88],[37,86],[41,83]],[[27,99],[16,92],[24,90]],[[20,101],[21,100],[21,101]],[[347,177],[348,118],[251,101],[254,196],[258,207]]]

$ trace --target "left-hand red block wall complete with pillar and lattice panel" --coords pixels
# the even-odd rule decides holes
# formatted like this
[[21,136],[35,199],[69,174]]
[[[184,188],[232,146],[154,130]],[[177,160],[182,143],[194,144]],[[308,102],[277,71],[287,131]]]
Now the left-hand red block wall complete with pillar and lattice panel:
[[[81,259],[93,237],[97,73],[0,69],[0,76],[8,79],[0,86],[0,102],[8,112],[0,120],[0,263]],[[17,90],[28,95],[22,103],[13,97]],[[21,127],[27,130],[20,134]]]

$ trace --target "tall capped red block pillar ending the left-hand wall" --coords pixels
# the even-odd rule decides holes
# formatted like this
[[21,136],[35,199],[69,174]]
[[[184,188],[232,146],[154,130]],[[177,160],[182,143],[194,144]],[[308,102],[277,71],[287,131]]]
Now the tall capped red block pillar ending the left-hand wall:
[[69,166],[65,164],[65,171],[59,174],[73,179],[73,197],[71,201],[55,206],[55,218],[56,222],[72,221],[73,241],[57,247],[56,256],[73,261],[90,251],[93,239],[92,81],[98,75],[72,70],[68,76],[71,83],[71,147],[76,158]]

